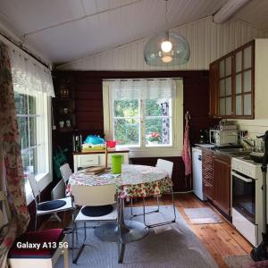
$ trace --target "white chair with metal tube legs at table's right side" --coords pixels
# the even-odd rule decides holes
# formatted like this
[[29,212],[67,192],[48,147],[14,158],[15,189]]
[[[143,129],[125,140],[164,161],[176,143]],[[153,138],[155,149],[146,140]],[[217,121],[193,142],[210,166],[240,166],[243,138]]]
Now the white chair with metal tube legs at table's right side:
[[[168,172],[169,179],[172,180],[173,163],[171,161],[167,161],[167,160],[163,160],[163,159],[159,158],[159,159],[157,159],[157,163],[156,163],[155,167]],[[157,209],[156,210],[151,210],[151,211],[146,211],[145,198],[143,198],[143,213],[141,213],[141,214],[133,214],[132,213],[132,200],[131,200],[131,215],[134,216],[134,217],[143,215],[143,220],[144,220],[144,223],[146,224],[146,214],[159,213],[159,211],[160,211],[159,197],[161,197],[161,196],[156,196],[156,198],[157,198]],[[158,222],[158,223],[151,224],[151,225],[146,224],[147,227],[152,228],[152,227],[161,226],[161,225],[176,222],[176,210],[175,210],[175,205],[174,205],[173,189],[172,189],[172,206],[173,206],[173,213],[174,213],[173,220],[167,221],[167,222]]]

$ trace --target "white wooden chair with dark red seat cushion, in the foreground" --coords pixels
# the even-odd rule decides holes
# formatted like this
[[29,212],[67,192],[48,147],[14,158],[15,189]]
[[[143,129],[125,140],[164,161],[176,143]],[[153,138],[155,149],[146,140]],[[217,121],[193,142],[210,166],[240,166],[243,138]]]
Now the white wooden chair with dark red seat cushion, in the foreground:
[[[3,227],[4,224],[8,223],[11,219],[11,214],[9,211],[6,195],[3,191],[0,191],[0,214],[3,215],[0,218],[0,226]],[[1,221],[1,219],[3,219]],[[48,245],[52,243],[56,245],[53,249],[51,248],[19,248],[18,242],[33,242],[40,243],[40,245]],[[58,245],[63,247],[58,247]],[[8,264],[10,268],[53,268],[56,264],[60,255],[64,258],[64,268],[69,268],[69,257],[68,257],[68,247],[65,235],[63,234],[63,229],[51,229],[42,231],[31,231],[26,232],[21,237],[16,239],[13,243],[13,247],[9,251]]]

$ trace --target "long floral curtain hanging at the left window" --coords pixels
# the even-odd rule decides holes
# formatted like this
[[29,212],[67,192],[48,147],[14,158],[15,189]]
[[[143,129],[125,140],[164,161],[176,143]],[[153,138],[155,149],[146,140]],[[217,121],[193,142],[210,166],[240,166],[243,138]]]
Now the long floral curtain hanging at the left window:
[[7,254],[14,239],[29,224],[19,140],[8,47],[0,42],[0,189],[6,192],[12,213],[0,229],[1,268],[7,267]]

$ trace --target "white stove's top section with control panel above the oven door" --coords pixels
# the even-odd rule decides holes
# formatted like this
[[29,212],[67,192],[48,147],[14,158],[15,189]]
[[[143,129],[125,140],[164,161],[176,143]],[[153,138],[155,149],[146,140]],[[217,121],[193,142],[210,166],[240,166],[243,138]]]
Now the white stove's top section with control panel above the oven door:
[[261,166],[261,163],[255,163],[249,156],[231,158],[232,171],[239,172],[255,180],[262,178]]

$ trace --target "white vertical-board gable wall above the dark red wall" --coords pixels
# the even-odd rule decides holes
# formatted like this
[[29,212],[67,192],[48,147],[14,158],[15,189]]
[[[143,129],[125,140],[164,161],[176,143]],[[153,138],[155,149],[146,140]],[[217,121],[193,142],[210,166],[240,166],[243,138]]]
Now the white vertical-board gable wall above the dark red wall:
[[142,38],[104,53],[95,54],[59,66],[59,70],[207,70],[209,63],[227,54],[253,38],[268,38],[268,31],[239,20],[222,24],[213,22],[212,16],[172,29],[188,40],[190,59],[178,67],[152,67],[143,59],[143,48],[148,38]]

